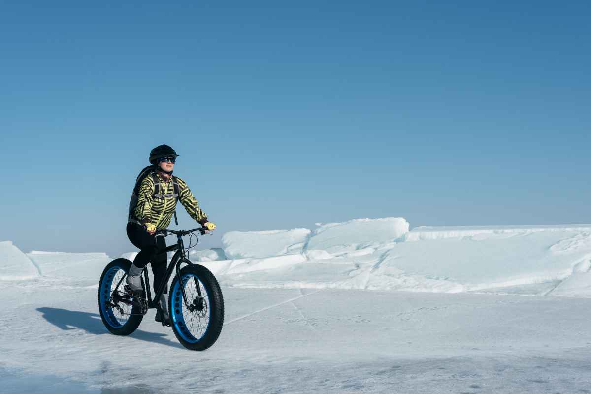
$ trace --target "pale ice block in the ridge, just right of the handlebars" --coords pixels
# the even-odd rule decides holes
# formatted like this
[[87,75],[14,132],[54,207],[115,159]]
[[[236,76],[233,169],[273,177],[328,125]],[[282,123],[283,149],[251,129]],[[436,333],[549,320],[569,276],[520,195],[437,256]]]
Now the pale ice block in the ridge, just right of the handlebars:
[[229,232],[222,245],[228,259],[264,258],[301,253],[309,235],[309,229]]

